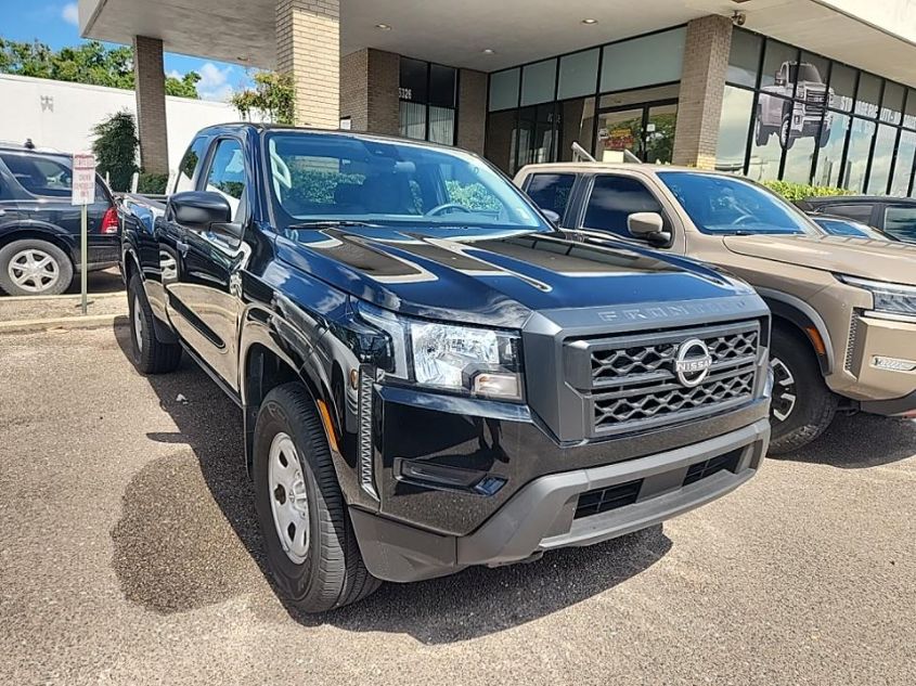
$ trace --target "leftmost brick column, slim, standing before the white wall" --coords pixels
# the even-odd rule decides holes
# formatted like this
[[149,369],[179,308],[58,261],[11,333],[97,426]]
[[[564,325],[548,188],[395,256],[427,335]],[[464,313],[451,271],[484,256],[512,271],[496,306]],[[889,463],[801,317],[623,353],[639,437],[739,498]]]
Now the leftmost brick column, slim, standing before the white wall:
[[158,38],[133,37],[133,80],[140,166],[150,173],[168,173],[166,76],[163,41]]

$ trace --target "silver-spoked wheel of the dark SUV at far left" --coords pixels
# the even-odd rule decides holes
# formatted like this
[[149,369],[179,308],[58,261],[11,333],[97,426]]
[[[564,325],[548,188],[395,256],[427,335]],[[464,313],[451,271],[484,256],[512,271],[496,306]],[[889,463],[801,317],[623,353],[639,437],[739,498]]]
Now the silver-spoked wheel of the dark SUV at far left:
[[57,296],[69,288],[73,263],[53,243],[25,238],[0,249],[0,288],[11,296]]

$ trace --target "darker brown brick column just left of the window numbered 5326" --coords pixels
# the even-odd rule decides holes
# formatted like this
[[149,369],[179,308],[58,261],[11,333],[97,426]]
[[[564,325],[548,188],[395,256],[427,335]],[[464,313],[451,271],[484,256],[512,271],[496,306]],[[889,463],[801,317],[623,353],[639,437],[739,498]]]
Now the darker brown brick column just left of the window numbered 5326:
[[400,56],[364,48],[340,59],[340,116],[353,131],[397,135]]

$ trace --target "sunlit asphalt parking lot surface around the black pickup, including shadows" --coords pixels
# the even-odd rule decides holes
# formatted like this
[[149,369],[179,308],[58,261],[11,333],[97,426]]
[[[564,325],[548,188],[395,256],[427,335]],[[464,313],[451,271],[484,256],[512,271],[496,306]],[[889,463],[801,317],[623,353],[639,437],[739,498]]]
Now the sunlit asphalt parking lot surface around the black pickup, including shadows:
[[916,423],[840,417],[663,528],[309,617],[265,577],[238,410],[127,345],[0,337],[2,684],[916,683]]

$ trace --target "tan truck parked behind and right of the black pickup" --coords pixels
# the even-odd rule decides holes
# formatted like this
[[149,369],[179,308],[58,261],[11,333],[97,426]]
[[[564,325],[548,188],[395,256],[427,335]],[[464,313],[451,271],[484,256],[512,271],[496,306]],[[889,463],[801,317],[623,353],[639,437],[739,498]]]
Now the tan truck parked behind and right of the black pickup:
[[651,165],[529,165],[515,178],[559,226],[704,260],[773,311],[771,452],[838,410],[916,416],[916,246],[830,236],[743,178]]

